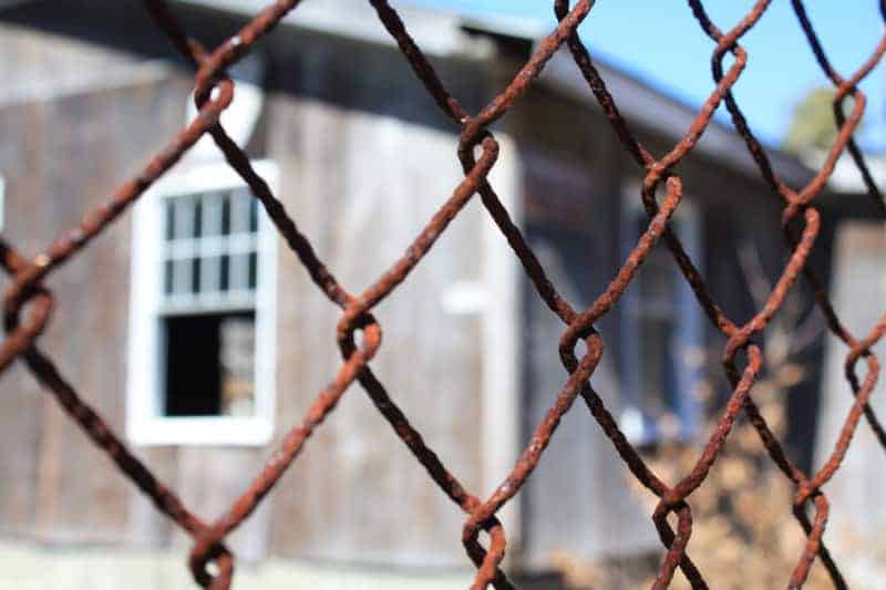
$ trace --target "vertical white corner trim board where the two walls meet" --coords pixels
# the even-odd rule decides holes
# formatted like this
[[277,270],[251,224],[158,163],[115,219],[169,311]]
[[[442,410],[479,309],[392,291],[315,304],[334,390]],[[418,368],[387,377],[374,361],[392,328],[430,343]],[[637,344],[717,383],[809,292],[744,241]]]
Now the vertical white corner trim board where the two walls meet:
[[[502,205],[519,227],[523,219],[521,164],[514,142],[496,136],[502,157],[490,174]],[[480,196],[474,198],[480,199]],[[484,215],[487,215],[484,209]],[[514,468],[522,448],[518,343],[523,334],[519,319],[519,267],[507,240],[491,218],[484,219],[483,280],[492,304],[483,313],[483,391],[481,415],[482,495],[488,497]],[[507,530],[508,544],[519,547],[522,536],[519,501],[507,503],[498,518]],[[508,559],[516,557],[508,552]]]

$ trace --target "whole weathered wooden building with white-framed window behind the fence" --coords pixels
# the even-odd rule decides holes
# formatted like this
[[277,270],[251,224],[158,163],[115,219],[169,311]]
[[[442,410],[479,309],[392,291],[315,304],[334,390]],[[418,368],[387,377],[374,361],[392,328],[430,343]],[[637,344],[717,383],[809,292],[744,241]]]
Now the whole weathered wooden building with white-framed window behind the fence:
[[[173,2],[208,46],[262,4]],[[545,33],[413,7],[402,15],[472,110]],[[0,62],[2,234],[35,253],[185,123],[193,72],[132,0],[17,2],[0,9],[0,21],[8,56]],[[605,64],[601,72],[655,152],[694,117],[624,72]],[[461,179],[459,130],[368,2],[306,1],[231,74],[237,97],[223,122],[352,290],[402,252]],[[496,136],[493,184],[554,283],[574,304],[588,304],[645,224],[642,170],[566,54],[552,60]],[[340,355],[338,310],[207,142],[52,276],[59,304],[41,342],[147,465],[212,517],[300,420]],[[773,163],[792,185],[811,177],[783,154]],[[780,204],[741,139],[717,122],[680,172],[687,197],[674,226],[727,313],[748,318],[753,299],[735,244],[762,252],[765,273],[775,276],[784,255]],[[823,268],[835,224],[825,217],[814,253]],[[705,362],[705,351],[715,361],[723,342],[659,250],[599,322],[607,352],[594,377],[625,432],[648,445],[693,441],[699,389],[725,386]],[[373,369],[443,462],[470,489],[490,494],[565,380],[557,356],[564,327],[478,201],[378,317],[385,337]],[[184,537],[22,366],[3,375],[0,392],[4,535],[185,550]],[[792,398],[805,402],[794,404],[791,437],[808,441],[817,381]],[[628,489],[608,439],[575,407],[502,513],[511,567],[545,572],[560,553],[598,560],[658,551],[648,510]],[[354,386],[231,545],[246,561],[467,570],[463,521]]]

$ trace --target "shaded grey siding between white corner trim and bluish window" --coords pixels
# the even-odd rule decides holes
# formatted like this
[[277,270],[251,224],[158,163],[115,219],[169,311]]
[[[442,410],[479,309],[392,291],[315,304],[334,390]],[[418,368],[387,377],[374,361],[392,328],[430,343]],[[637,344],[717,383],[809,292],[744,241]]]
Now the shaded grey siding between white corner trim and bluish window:
[[[529,152],[524,174],[529,244],[560,294],[584,309],[597,297],[611,267],[611,246],[618,244],[617,217],[612,222],[611,216],[618,215],[619,193],[608,190],[610,180],[588,161],[555,161]],[[567,373],[558,353],[565,325],[528,281],[524,284],[523,428],[528,439]],[[617,333],[618,324],[611,318],[604,323],[615,330],[604,332],[607,352],[593,383],[617,415],[618,349],[607,337]],[[578,354],[583,351],[579,345]],[[548,568],[557,557],[599,559],[653,547],[648,516],[640,497],[629,491],[628,477],[584,400],[577,398],[522,499],[527,563]]]

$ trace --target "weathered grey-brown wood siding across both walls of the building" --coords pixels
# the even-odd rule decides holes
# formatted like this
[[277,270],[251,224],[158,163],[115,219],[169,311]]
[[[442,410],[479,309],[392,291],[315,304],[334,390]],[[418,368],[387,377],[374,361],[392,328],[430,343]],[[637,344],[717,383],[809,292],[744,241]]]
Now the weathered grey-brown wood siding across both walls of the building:
[[[194,30],[202,39],[207,32],[209,41],[236,24],[197,15]],[[75,24],[70,30],[85,34],[84,24]],[[23,48],[22,63],[0,73],[39,81],[82,60],[90,71],[120,75],[113,87],[74,87],[60,80],[54,95],[34,100],[24,84],[18,100],[0,101],[3,235],[28,255],[103,203],[166,142],[183,123],[192,82],[188,72],[169,65],[172,50],[159,34],[121,29],[102,39],[142,56],[162,56],[165,65],[150,68],[136,65],[141,60],[131,53],[85,42],[70,42],[66,60],[48,55],[33,49],[40,34],[6,38],[8,53]],[[457,128],[393,48],[277,30],[258,53],[267,62],[269,93],[248,152],[278,164],[278,196],[319,257],[359,293],[404,252],[461,180]],[[509,68],[504,61],[483,65],[456,58],[437,65],[474,111],[504,85]],[[534,87],[496,133],[503,151],[495,186],[554,283],[575,306],[590,303],[621,265],[621,196],[641,170],[598,110],[544,87]],[[649,130],[638,133],[656,153],[669,147]],[[766,273],[777,275],[784,251],[777,204],[774,197],[766,201],[759,182],[721,163],[693,156],[680,170],[686,194],[702,209],[699,265],[727,313],[746,320],[754,308],[734,244],[748,236],[765,252]],[[490,225],[481,204],[468,203],[437,247],[377,308],[384,339],[372,362],[426,443],[481,497],[506,475],[509,457],[566,379],[557,358],[564,325],[538,300]],[[52,276],[59,306],[41,340],[120,434],[125,434],[125,366],[138,362],[125,358],[124,345],[130,239],[130,220],[122,219]],[[340,311],[282,240],[278,246],[275,442],[300,422],[341,362],[334,340]],[[826,238],[821,248],[826,258]],[[7,283],[0,279],[0,287]],[[616,414],[625,371],[620,313],[617,307],[598,322],[607,353],[594,376]],[[709,330],[707,344],[715,365],[722,339]],[[501,370],[504,374],[496,373]],[[724,391],[719,368],[711,381]],[[120,477],[21,366],[3,375],[0,394],[0,415],[7,416],[0,444],[16,449],[0,456],[2,531],[185,550],[188,540]],[[648,509],[627,491],[627,469],[583,402],[576,403],[505,510],[506,518],[516,517],[507,526],[515,565],[545,569],[557,552],[599,558],[660,550]],[[137,453],[197,513],[213,517],[271,451],[167,446]],[[463,521],[354,385],[231,545],[247,561],[272,555],[464,568]]]

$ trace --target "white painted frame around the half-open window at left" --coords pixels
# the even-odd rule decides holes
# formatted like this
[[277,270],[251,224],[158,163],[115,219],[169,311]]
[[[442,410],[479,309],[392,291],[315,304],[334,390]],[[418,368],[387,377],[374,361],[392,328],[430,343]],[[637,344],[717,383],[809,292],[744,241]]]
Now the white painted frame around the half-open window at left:
[[[276,190],[279,177],[276,164],[257,161],[253,166],[271,190]],[[159,205],[167,197],[245,186],[243,179],[224,163],[199,164],[163,176],[134,207],[126,432],[136,445],[264,445],[274,434],[277,240],[271,221],[264,213],[258,216],[258,284],[255,292],[255,416],[161,415],[163,269],[159,252],[163,208]]]

